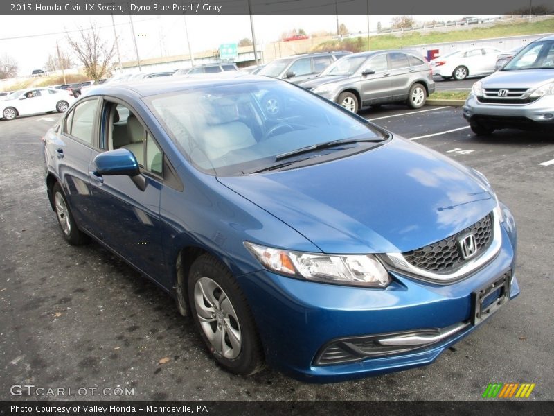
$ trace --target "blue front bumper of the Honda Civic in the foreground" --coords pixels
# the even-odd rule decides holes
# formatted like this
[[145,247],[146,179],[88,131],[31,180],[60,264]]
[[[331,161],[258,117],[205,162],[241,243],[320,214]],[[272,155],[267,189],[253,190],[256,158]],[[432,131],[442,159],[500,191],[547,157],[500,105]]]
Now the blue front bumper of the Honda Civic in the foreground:
[[[486,266],[454,284],[429,284],[391,272],[393,284],[368,289],[319,284],[267,270],[238,277],[265,347],[267,362],[296,379],[336,382],[427,365],[474,331],[472,293],[515,266],[515,229],[501,227],[502,245]],[[509,298],[519,294],[515,275]],[[336,340],[379,336],[398,342],[398,333],[418,336],[435,330],[436,342],[405,352],[377,354],[343,363],[319,361]],[[456,329],[455,331],[450,331]],[[430,330],[430,331],[429,331]],[[384,336],[388,334],[389,336]],[[445,336],[440,336],[445,334]],[[431,334],[432,335],[432,334]]]

